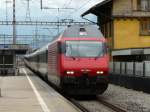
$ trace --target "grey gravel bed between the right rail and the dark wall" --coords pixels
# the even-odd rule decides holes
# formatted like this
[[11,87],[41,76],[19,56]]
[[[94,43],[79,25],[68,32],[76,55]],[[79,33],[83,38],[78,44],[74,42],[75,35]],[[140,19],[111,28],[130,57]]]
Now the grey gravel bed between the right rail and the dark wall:
[[150,112],[150,94],[147,93],[110,84],[99,97],[128,112]]

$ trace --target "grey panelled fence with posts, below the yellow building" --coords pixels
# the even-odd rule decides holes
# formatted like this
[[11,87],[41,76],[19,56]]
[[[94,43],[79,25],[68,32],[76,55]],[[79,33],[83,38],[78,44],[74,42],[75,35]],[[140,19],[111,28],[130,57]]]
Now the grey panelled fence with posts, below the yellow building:
[[150,77],[150,61],[144,62],[111,62],[110,73]]

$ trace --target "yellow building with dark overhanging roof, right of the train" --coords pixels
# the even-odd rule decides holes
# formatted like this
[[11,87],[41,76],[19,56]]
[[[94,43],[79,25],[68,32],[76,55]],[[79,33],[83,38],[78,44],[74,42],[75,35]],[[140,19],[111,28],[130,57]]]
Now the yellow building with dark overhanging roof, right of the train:
[[98,17],[114,61],[150,60],[150,0],[104,0],[86,11]]

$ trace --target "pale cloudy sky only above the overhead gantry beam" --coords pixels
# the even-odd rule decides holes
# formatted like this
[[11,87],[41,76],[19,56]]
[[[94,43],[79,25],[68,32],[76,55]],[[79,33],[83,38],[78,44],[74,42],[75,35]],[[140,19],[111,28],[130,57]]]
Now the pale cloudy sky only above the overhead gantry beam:
[[[0,17],[6,18],[6,0],[0,0]],[[12,1],[12,0],[7,0]],[[74,8],[72,10],[40,9],[40,0],[30,0],[30,13],[32,20],[53,20],[53,17],[59,15],[60,18],[67,17],[79,19],[81,13],[88,10],[90,7],[101,2],[102,0],[43,0],[43,7],[49,8]],[[16,0],[16,16],[17,20],[24,20],[26,17],[27,1]],[[9,20],[12,19],[12,3],[7,4]],[[62,17],[63,16],[63,17]],[[53,20],[54,21],[54,20]]]

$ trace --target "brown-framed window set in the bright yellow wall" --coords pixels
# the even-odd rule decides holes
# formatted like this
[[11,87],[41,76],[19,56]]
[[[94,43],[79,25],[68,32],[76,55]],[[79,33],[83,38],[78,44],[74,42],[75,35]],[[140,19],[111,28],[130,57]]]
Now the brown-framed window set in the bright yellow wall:
[[145,36],[150,35],[150,20],[140,21],[140,34]]

